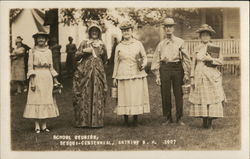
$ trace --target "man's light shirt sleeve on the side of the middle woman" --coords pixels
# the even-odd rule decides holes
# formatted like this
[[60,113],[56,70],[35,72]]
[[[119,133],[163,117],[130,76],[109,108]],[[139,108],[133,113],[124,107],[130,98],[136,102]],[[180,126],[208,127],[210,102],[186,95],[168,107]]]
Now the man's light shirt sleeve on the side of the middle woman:
[[153,55],[153,61],[151,64],[151,70],[155,74],[155,76],[160,77],[160,48],[161,43],[159,43],[155,49],[154,55]]

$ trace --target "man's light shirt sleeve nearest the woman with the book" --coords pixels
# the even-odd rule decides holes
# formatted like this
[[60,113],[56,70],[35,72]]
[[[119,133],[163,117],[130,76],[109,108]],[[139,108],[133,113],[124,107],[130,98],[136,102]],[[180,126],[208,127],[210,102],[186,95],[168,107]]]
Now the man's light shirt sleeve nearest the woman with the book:
[[186,47],[184,46],[184,41],[181,42],[181,47],[180,47],[180,52],[181,52],[181,58],[182,58],[182,67],[184,69],[184,74],[189,76],[190,75],[190,55]]

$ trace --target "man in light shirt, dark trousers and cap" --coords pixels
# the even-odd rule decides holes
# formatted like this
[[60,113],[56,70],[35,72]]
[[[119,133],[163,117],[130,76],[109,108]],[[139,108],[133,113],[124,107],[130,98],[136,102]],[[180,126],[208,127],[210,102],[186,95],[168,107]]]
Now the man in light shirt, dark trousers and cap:
[[182,85],[189,81],[190,56],[184,48],[184,40],[174,36],[175,22],[172,18],[164,21],[166,38],[161,41],[153,55],[151,70],[156,76],[157,85],[161,86],[162,109],[165,121],[163,125],[173,122],[171,87],[176,103],[176,122],[184,126]]

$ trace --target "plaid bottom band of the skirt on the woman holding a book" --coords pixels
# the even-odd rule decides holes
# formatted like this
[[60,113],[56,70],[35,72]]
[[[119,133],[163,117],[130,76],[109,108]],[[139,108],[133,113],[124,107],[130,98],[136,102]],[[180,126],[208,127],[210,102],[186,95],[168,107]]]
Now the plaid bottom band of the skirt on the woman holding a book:
[[193,117],[223,117],[223,105],[222,103],[209,104],[209,105],[191,105],[189,109],[189,115]]

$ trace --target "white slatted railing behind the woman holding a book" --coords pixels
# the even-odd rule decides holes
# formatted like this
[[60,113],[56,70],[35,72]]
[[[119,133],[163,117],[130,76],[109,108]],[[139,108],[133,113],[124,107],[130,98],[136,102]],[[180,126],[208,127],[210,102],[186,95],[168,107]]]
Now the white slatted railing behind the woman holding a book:
[[[186,40],[186,47],[192,54],[200,44],[199,40]],[[239,39],[213,39],[212,43],[221,48],[224,65],[219,67],[223,74],[240,74],[240,40]]]

